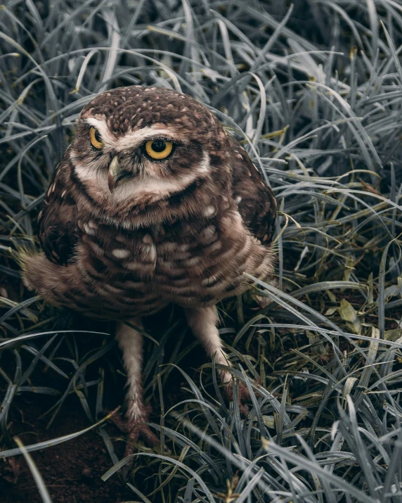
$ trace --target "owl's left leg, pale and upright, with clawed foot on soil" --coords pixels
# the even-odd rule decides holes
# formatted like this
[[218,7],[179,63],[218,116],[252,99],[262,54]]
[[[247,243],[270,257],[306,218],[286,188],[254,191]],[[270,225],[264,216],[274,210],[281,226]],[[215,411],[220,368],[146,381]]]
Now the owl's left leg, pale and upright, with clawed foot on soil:
[[[139,329],[143,324],[141,318],[133,318],[129,322]],[[156,445],[159,440],[146,422],[150,413],[149,407],[143,404],[142,364],[143,364],[143,336],[131,326],[117,323],[116,339],[123,352],[124,368],[127,371],[127,399],[126,424],[124,430],[128,433],[126,456],[134,452],[133,442],[142,438],[148,445]]]

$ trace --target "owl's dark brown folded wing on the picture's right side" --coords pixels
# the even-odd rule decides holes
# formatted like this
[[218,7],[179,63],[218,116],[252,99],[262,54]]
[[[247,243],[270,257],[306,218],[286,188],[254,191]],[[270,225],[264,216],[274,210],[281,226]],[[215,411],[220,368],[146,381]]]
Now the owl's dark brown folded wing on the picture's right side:
[[261,243],[271,243],[275,232],[276,199],[247,152],[233,139],[233,198],[245,226]]

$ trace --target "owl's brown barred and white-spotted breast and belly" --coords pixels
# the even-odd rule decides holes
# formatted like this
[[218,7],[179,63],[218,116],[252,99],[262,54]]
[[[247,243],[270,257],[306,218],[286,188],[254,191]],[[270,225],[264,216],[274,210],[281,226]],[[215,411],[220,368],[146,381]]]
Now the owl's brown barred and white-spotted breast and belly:
[[[237,210],[222,215],[124,229],[88,220],[75,260],[81,288],[59,303],[100,318],[152,314],[169,303],[210,305],[249,286],[244,272],[271,273],[268,248],[243,227]],[[94,294],[96,292],[96,294]]]

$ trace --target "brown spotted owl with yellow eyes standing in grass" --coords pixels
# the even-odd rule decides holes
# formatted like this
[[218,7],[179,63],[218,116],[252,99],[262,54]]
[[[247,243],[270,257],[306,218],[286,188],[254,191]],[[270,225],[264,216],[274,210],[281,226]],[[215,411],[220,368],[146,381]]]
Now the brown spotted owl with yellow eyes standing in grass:
[[24,257],[23,277],[48,303],[116,321],[129,440],[158,441],[145,425],[143,317],[181,306],[209,357],[227,365],[215,305],[250,288],[244,273],[271,276],[275,214],[246,151],[190,96],[121,87],[82,110],[39,212],[42,251]]

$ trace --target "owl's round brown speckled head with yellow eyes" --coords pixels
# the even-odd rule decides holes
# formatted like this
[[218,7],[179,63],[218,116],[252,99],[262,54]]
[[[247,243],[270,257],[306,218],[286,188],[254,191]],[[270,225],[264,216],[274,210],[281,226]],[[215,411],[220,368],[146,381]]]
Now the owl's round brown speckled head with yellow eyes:
[[85,106],[68,155],[93,200],[127,209],[181,193],[197,179],[221,185],[229,141],[219,120],[186,94],[120,87]]

